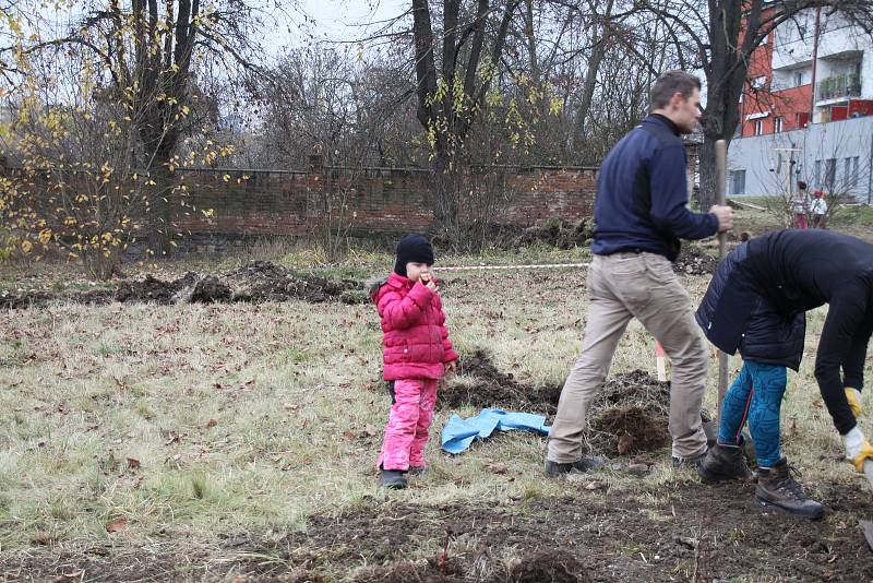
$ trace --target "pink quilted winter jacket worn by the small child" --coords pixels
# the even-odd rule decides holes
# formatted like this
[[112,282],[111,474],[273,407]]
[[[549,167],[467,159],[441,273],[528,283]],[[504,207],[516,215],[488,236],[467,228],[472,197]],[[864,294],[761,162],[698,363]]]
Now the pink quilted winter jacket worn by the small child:
[[373,301],[382,317],[385,380],[441,378],[443,365],[456,360],[457,353],[449,340],[440,295],[392,273]]

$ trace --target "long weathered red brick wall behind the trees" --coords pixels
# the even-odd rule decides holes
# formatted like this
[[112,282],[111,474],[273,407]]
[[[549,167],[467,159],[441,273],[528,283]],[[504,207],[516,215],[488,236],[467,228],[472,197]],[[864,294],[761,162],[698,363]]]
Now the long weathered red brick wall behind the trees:
[[[497,174],[495,174],[497,172]],[[495,180],[494,176],[499,176]],[[356,174],[318,165],[309,171],[181,170],[189,195],[175,210],[183,236],[246,237],[309,235],[324,226],[325,192],[352,234],[423,230],[432,219],[429,170],[369,168]],[[499,198],[493,213],[482,212],[482,192]],[[590,216],[595,168],[489,168],[468,174],[461,201],[463,219],[533,226],[551,216],[573,221]],[[204,214],[204,210],[212,213]],[[338,212],[333,212],[337,219]]]

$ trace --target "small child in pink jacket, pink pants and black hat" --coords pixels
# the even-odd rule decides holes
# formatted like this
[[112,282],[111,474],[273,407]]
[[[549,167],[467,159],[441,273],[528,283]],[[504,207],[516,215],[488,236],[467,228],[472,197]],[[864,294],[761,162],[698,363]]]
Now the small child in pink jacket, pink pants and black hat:
[[406,473],[427,467],[424,445],[436,403],[436,381],[454,368],[436,281],[433,248],[418,235],[397,243],[394,273],[371,289],[382,318],[384,378],[392,405],[379,454],[381,485],[405,488]]

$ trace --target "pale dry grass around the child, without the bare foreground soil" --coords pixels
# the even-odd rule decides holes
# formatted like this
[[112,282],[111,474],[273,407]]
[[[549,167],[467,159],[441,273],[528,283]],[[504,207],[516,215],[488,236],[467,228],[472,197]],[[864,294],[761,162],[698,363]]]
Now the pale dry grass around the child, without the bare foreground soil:
[[[297,249],[285,260],[303,269],[319,263],[316,255]],[[535,250],[481,261],[581,257]],[[390,261],[367,253],[335,270],[386,271]],[[470,258],[445,263],[453,261]],[[499,368],[524,382],[563,380],[584,331],[583,271],[446,279],[459,352],[488,347]],[[695,302],[707,279],[683,278]],[[806,358],[789,376],[786,451],[808,477],[851,481],[848,464],[820,459],[838,445],[812,374],[824,313],[810,314]],[[55,305],[2,312],[0,331],[0,564],[91,543],[111,543],[121,554],[154,549],[156,536],[171,538],[160,552],[220,562],[211,549],[228,533],[268,537],[303,528],[309,515],[385,496],[373,464],[388,400],[371,306]],[[651,348],[633,323],[613,373],[654,373]],[[864,402],[873,409],[868,392]],[[498,438],[456,457],[440,453],[439,428],[450,413],[434,419],[432,472],[393,498],[499,504],[567,487],[541,478],[545,440],[531,435]],[[492,473],[494,463],[505,473]],[[629,497],[696,479],[674,471],[666,452],[645,478],[611,472],[601,478]],[[118,532],[107,532],[110,523]]]

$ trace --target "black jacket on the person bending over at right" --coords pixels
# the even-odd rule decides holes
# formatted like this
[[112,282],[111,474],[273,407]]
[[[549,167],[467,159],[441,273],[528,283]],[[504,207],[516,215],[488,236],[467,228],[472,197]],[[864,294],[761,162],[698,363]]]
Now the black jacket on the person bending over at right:
[[721,350],[797,369],[803,313],[825,304],[815,380],[845,436],[856,419],[842,389],[863,386],[873,334],[873,245],[820,229],[756,237],[719,265],[696,319]]

